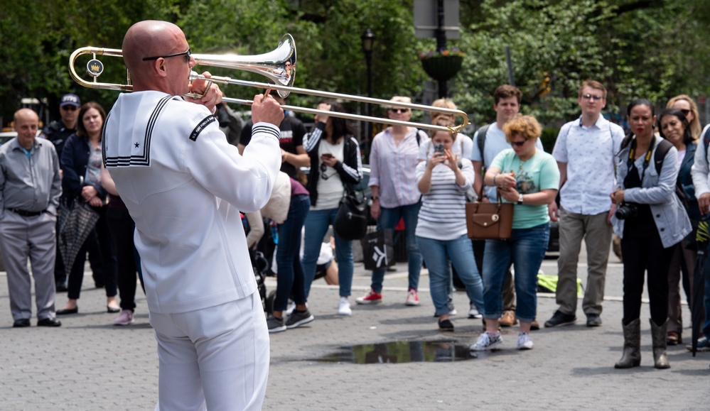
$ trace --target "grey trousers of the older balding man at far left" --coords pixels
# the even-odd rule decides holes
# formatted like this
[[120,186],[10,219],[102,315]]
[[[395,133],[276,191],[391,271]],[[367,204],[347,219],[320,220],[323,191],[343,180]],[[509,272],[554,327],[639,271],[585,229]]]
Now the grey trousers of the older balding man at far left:
[[14,320],[32,317],[32,283],[27,258],[35,280],[37,318],[55,316],[56,221],[48,213],[22,217],[8,209],[0,219],[0,253],[7,272],[10,311]]

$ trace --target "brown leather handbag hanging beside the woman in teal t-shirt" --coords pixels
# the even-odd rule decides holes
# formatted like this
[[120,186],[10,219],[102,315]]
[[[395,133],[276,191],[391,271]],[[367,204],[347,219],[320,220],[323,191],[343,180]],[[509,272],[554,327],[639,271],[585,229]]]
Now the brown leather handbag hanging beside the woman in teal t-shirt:
[[504,203],[500,195],[492,203],[478,201],[466,203],[466,229],[468,237],[474,240],[507,240],[512,231],[513,204]]

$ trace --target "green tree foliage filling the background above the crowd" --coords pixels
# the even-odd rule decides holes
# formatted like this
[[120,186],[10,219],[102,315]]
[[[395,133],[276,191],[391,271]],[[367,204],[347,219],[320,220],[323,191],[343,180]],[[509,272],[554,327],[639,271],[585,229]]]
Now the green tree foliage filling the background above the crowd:
[[[22,97],[47,99],[53,117],[65,92],[109,108],[117,92],[85,89],[68,73],[69,55],[94,45],[120,48],[129,26],[146,18],[177,23],[193,53],[255,55],[291,33],[298,48],[296,86],[346,94],[367,93],[360,35],[377,36],[373,94],[421,95],[429,78],[418,53],[434,39],[414,38],[412,0],[151,0],[15,2],[0,15],[0,115],[7,121]],[[448,47],[466,53],[449,90],[472,120],[493,119],[493,89],[507,83],[510,48],[523,111],[559,125],[578,113],[576,90],[586,78],[609,89],[608,111],[618,114],[633,97],[659,105],[674,94],[710,92],[709,1],[672,0],[461,0],[461,38]],[[117,57],[102,57],[99,81],[125,82]],[[82,60],[85,64],[86,60]],[[77,70],[82,70],[77,67]],[[196,67],[215,75],[264,82],[250,73]],[[225,86],[229,97],[257,89]],[[291,104],[315,106],[318,97]],[[350,104],[353,111],[362,105]]]

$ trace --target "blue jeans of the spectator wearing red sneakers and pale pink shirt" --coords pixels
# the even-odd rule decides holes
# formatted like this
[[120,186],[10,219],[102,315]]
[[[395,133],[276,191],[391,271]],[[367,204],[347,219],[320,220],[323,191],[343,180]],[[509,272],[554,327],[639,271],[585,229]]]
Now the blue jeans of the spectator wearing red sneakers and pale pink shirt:
[[[407,254],[409,256],[409,288],[414,288],[414,290],[419,286],[419,273],[421,273],[421,253],[419,252],[419,247],[416,246],[416,236],[414,236],[416,220],[419,219],[419,207],[421,207],[421,202],[394,207],[393,209],[382,207],[382,214],[380,214],[380,219],[377,220],[378,229],[394,230],[394,227],[399,223],[399,219],[404,218],[404,227],[407,229],[405,231],[407,233]],[[372,284],[370,285],[372,290],[382,292],[384,271],[384,268],[372,271]]]

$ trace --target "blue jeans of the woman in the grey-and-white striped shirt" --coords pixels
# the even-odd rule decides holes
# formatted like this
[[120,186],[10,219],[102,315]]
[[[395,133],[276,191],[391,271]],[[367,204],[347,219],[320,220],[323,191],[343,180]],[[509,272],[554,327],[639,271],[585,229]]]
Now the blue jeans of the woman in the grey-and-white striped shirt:
[[426,268],[429,269],[429,290],[434,302],[436,314],[448,314],[448,285],[451,281],[451,270],[448,262],[456,268],[458,277],[466,285],[466,294],[475,307],[483,310],[483,283],[481,283],[478,268],[473,257],[473,247],[468,236],[464,234],[458,239],[441,241],[417,236],[421,255],[424,256]]

